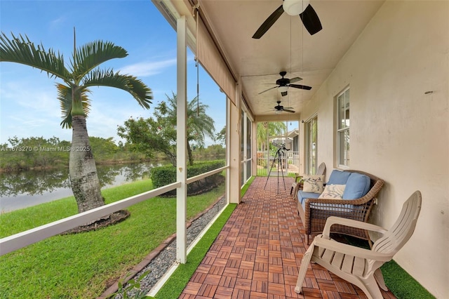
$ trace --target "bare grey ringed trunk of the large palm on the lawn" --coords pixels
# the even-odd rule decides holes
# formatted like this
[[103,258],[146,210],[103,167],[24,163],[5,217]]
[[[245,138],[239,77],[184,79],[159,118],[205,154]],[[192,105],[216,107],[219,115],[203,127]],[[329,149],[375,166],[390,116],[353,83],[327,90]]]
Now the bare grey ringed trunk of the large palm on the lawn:
[[70,147],[69,175],[78,213],[105,204],[100,192],[95,159],[89,144],[86,117],[72,117],[72,147]]

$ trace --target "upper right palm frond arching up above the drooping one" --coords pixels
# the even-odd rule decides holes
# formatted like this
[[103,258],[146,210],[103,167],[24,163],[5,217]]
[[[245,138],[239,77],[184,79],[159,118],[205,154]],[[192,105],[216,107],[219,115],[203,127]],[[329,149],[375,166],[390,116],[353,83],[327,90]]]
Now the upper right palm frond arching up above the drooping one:
[[92,41],[76,49],[74,57],[70,60],[74,78],[81,80],[88,72],[107,60],[124,58],[128,52],[121,46],[109,41]]

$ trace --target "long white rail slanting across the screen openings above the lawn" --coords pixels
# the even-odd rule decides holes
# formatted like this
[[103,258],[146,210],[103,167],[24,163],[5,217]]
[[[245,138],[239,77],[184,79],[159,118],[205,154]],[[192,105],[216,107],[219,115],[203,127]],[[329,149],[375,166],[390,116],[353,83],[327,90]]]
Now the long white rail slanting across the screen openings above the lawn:
[[[188,178],[187,183],[201,180],[202,178],[206,178],[209,175],[213,175],[215,173],[220,173],[220,171],[223,171],[227,168],[229,168],[229,166],[224,166],[222,168],[217,168],[213,171],[209,171],[208,173],[196,175],[192,178]],[[61,220],[56,220],[54,222],[35,227],[25,232],[19,232],[18,234],[4,237],[0,239],[0,256],[18,250],[30,244],[42,241],[43,239],[53,237],[56,234],[66,232],[67,230],[72,230],[73,228],[79,227],[80,225],[85,225],[86,223],[97,220],[98,218],[101,218],[105,215],[123,210],[124,208],[128,208],[133,204],[138,204],[140,201],[152,199],[153,197],[157,197],[171,190],[175,190],[180,186],[181,182],[173,182],[172,184],[159,187],[157,189],[150,190],[133,197],[128,197],[126,199],[122,199],[121,201],[116,201],[112,204],[93,208],[92,210],[72,215]]]

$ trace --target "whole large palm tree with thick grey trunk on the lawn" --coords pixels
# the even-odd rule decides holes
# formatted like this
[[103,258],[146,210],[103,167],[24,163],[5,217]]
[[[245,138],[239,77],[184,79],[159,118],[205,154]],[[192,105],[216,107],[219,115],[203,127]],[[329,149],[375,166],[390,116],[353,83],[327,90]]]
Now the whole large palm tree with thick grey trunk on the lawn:
[[69,175],[79,213],[104,205],[86,128],[86,117],[91,106],[89,88],[120,88],[133,95],[139,105],[146,109],[153,98],[152,90],[136,77],[99,68],[102,62],[128,55],[124,48],[112,42],[93,41],[76,48],[74,41],[72,59],[66,67],[63,55],[59,52],[55,53],[51,48],[46,51],[42,44],[36,47],[26,35],[25,38],[22,35],[11,35],[12,38],[9,39],[1,32],[0,62],[29,65],[46,72],[48,77],[63,81],[57,83],[56,88],[62,112],[61,126],[72,128]]

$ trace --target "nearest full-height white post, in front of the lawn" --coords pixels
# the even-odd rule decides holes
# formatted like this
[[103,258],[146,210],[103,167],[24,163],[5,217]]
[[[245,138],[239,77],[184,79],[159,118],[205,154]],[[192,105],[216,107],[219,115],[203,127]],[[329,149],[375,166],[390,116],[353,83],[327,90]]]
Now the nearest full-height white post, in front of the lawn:
[[176,123],[176,260],[187,262],[187,21],[177,19],[177,123]]

